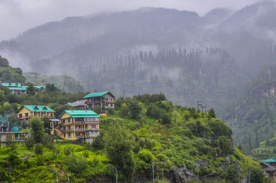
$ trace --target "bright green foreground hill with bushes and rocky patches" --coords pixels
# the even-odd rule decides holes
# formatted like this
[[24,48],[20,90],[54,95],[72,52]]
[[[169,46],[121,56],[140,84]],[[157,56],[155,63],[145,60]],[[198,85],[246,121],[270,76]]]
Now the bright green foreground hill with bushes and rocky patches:
[[238,173],[248,177],[249,167],[259,170],[233,147],[231,129],[214,111],[201,118],[163,94],[119,98],[115,106],[92,145],[43,138],[2,147],[1,182],[115,182],[116,167],[120,181],[150,182],[152,162],[157,182],[235,182]]

